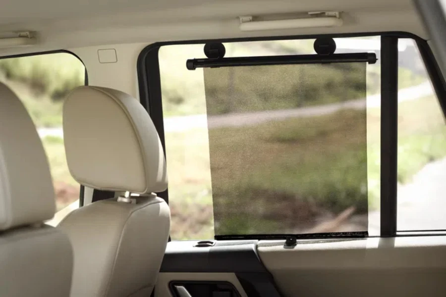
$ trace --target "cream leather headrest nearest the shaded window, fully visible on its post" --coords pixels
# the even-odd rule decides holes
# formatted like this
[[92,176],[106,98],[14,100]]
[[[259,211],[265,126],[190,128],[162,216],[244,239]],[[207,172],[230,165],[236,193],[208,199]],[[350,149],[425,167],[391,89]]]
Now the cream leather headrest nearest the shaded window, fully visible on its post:
[[128,94],[74,89],[63,105],[68,168],[82,185],[146,194],[167,188],[166,160],[144,107]]

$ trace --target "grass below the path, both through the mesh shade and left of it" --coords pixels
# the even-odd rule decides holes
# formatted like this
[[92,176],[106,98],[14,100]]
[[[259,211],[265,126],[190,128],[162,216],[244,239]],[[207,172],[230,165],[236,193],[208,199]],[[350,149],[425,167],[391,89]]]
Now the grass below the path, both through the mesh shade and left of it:
[[[339,117],[345,121],[335,121]],[[333,121],[338,125],[327,125]],[[358,124],[358,121],[362,121],[362,127],[354,125]],[[307,129],[302,129],[302,127]],[[361,129],[363,137],[345,138],[348,134],[361,134],[359,132]],[[364,114],[361,115],[361,112],[354,111],[318,117],[316,121],[314,119],[297,119],[267,123],[249,129],[213,129],[210,131],[210,137],[214,140],[211,145],[211,156],[217,152],[218,155],[216,154],[216,158],[212,159],[211,168],[215,170],[212,178],[214,181],[219,181],[212,187],[214,203],[211,194],[206,129],[195,129],[187,133],[167,133],[167,168],[171,206],[175,205],[175,208],[181,208],[182,211],[189,213],[192,212],[189,210],[197,208],[197,204],[209,206],[213,204],[214,211],[220,211],[220,214],[222,211],[228,210],[223,205],[224,203],[228,203],[227,207],[231,209],[240,209],[240,211],[243,208],[248,209],[248,213],[230,211],[230,216],[224,220],[224,226],[219,222],[217,225],[220,230],[228,232],[234,231],[233,228],[237,226],[238,232],[251,233],[255,233],[255,230],[250,229],[252,225],[261,228],[264,232],[277,233],[280,230],[277,226],[280,224],[271,216],[274,212],[282,212],[284,207],[296,208],[294,214],[299,212],[303,219],[311,217],[314,215],[313,212],[317,211],[308,210],[308,205],[317,207],[324,203],[327,205],[331,203],[334,207],[341,209],[343,206],[335,197],[342,196],[345,205],[362,204],[361,207],[364,208],[367,205],[367,185],[359,185],[357,181],[358,176],[362,176],[363,182],[366,182],[366,168],[362,166],[361,169],[356,166],[358,162],[364,160],[364,130]],[[336,131],[340,132],[334,133]],[[250,137],[246,138],[246,135],[250,135]],[[315,153],[315,142],[324,143],[321,137],[325,138],[326,143],[330,145],[329,147],[321,145],[320,151]],[[348,153],[342,151],[342,145],[337,144],[339,139],[344,138],[345,146],[351,146],[351,151]],[[358,147],[359,150],[363,150],[362,154],[358,153]],[[264,149],[268,153],[260,155],[248,153],[237,156],[234,151],[239,148],[244,148],[245,152]],[[340,153],[343,157],[336,158]],[[293,164],[298,164],[298,166]],[[237,167],[231,168],[234,165]],[[314,167],[315,165],[317,168]],[[332,170],[331,174],[321,175],[318,172],[327,167],[342,168],[342,173]],[[265,168],[272,170],[266,170],[265,174]],[[347,170],[349,168],[352,170]],[[350,182],[353,188],[359,186],[363,191],[362,195],[355,197],[352,195],[353,192],[348,192],[348,189],[341,189],[338,185],[345,185],[345,181]],[[327,191],[330,190],[331,195],[327,195]],[[224,203],[219,205],[215,199],[220,195],[223,195],[224,199],[219,199],[219,201],[224,201]],[[323,196],[326,200],[317,202],[317,198]],[[274,203],[271,203],[272,200]],[[299,200],[306,201],[299,203]],[[191,207],[191,205],[193,206]],[[250,205],[258,207],[254,209]],[[259,212],[264,212],[265,209],[270,209],[270,213],[259,215]],[[200,216],[200,214],[198,215]],[[241,218],[246,219],[247,216],[251,217],[251,223],[255,222],[255,224],[246,224],[246,220],[241,220]],[[173,239],[210,238],[213,226],[211,213],[208,221],[201,224],[201,230],[197,233],[189,231],[185,234],[181,225],[172,223],[171,236]],[[213,234],[211,235],[213,236]]]

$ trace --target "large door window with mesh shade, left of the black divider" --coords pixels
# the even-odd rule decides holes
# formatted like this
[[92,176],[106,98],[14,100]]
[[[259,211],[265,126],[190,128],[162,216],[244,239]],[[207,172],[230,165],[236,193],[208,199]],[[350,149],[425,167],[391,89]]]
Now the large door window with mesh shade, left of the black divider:
[[[335,41],[337,45],[336,53],[369,51],[375,52],[379,58],[379,37],[344,38],[335,39]],[[314,53],[313,43],[314,40],[298,40],[224,44],[226,47],[225,57],[311,54]],[[250,127],[249,130],[241,131],[240,127],[236,127],[237,124],[235,122],[237,119],[239,121],[246,120],[246,117],[243,118],[243,112],[251,112],[254,109],[260,111],[265,108],[283,110],[291,109],[291,106],[285,103],[278,103],[278,106],[272,107],[268,105],[268,107],[265,107],[262,105],[262,107],[259,105],[259,102],[249,105],[246,103],[247,100],[243,101],[247,96],[249,97],[249,94],[246,93],[250,92],[249,90],[243,93],[245,97],[236,103],[237,106],[230,105],[234,104],[234,102],[221,104],[225,100],[224,98],[217,100],[217,104],[210,105],[209,102],[207,104],[207,100],[209,101],[210,97],[209,94],[211,93],[212,95],[212,92],[216,92],[218,81],[224,81],[224,84],[222,83],[223,86],[219,88],[228,90],[233,88],[238,93],[251,87],[238,86],[237,82],[231,82],[231,76],[228,73],[224,73],[224,69],[227,68],[221,68],[223,72],[217,73],[213,77],[204,75],[204,72],[208,71],[208,69],[187,70],[184,67],[185,60],[203,57],[203,46],[203,44],[165,46],[161,47],[159,51],[167,171],[169,174],[168,195],[172,219],[171,238],[173,240],[213,238],[216,235],[216,229],[222,228],[222,221],[216,220],[216,211],[222,211],[224,203],[228,203],[227,209],[224,211],[232,219],[225,221],[223,228],[226,228],[224,230],[227,232],[236,234],[259,233],[259,230],[252,230],[252,226],[247,226],[246,217],[249,217],[251,222],[254,218],[257,218],[256,222],[258,225],[263,226],[261,230],[268,231],[268,233],[275,233],[275,231],[278,233],[278,230],[282,233],[289,231],[289,228],[280,229],[278,222],[280,226],[283,226],[284,222],[277,219],[280,216],[287,216],[287,212],[290,213],[287,216],[288,218],[292,216],[302,218],[300,221],[295,219],[291,222],[291,225],[294,225],[293,232],[296,230],[299,232],[308,230],[311,232],[366,230],[369,234],[379,234],[380,63],[369,64],[364,68],[366,71],[364,83],[366,81],[366,85],[363,94],[361,92],[356,93],[355,90],[357,88],[355,89],[355,87],[346,88],[345,85],[342,85],[339,86],[339,90],[343,88],[343,93],[339,93],[343,94],[342,96],[339,94],[332,96],[328,93],[320,93],[309,102],[300,103],[301,106],[292,106],[292,109],[298,109],[299,107],[307,108],[308,106],[314,107],[314,105],[317,105],[322,110],[327,108],[328,105],[337,102],[336,100],[363,100],[362,111],[354,110],[354,108],[349,108],[347,105],[345,108],[342,108],[340,113],[335,113],[335,115],[325,114],[324,116],[319,116],[313,114],[312,117],[306,117],[305,119],[287,119],[287,121],[281,124],[273,124],[276,127],[272,127],[269,124],[260,124],[258,127]],[[330,67],[325,69],[327,71],[333,70]],[[283,69],[281,70],[283,72]],[[337,77],[345,76],[348,73],[352,77],[357,77],[355,74],[359,73],[354,71],[344,73],[333,71],[333,74],[337,75]],[[301,72],[316,73],[310,79],[317,81],[318,74],[315,70],[303,69]],[[249,75],[248,72],[244,73]],[[244,73],[236,73],[233,77],[237,75],[237,77],[243,76],[245,75]],[[319,75],[324,76],[325,73],[319,73]],[[401,75],[409,75],[409,73],[402,70]],[[268,84],[268,78],[259,84]],[[303,75],[302,78],[304,78]],[[328,80],[328,75],[326,79]],[[213,83],[210,83],[210,80],[215,80],[216,83],[212,85]],[[338,81],[337,85],[339,83]],[[208,85],[208,88],[206,85]],[[327,85],[335,89],[333,86],[336,83],[333,85],[328,82]],[[400,87],[404,88],[407,85],[402,84]],[[251,88],[252,92],[258,92],[253,91],[253,89],[254,87]],[[308,87],[304,89],[308,90]],[[308,93],[307,95],[305,97],[310,98],[312,94]],[[317,102],[316,99],[320,101]],[[276,103],[278,101],[276,100]],[[286,102],[286,99],[283,102]],[[365,108],[366,106],[367,109]],[[361,115],[362,112],[364,112],[363,116]],[[210,114],[214,116],[212,119],[209,117]],[[234,114],[238,116],[237,119],[235,117],[231,118],[230,115]],[[293,121],[299,122],[294,123]],[[219,123],[226,123],[227,125],[220,129],[221,132],[218,135],[215,135],[216,129],[211,128],[215,125],[218,126]],[[339,125],[336,127],[336,125],[329,123],[339,123]],[[296,127],[298,128],[296,129]],[[307,127],[308,129],[299,127]],[[356,127],[359,130],[351,130],[350,127]],[[361,131],[361,129],[363,130]],[[310,130],[314,132],[311,135],[307,135],[308,139],[311,139],[311,143],[309,142],[308,146],[300,152],[298,150],[289,152],[290,154],[294,153],[294,161],[297,162],[299,156],[302,157],[305,154],[304,152],[307,151],[306,155],[309,160],[307,168],[290,165],[288,166],[290,168],[286,171],[284,168],[286,168],[287,162],[285,161],[290,159],[289,156],[284,158],[283,148],[295,146],[297,142],[305,142],[306,140],[305,137],[302,137],[302,133],[307,133]],[[265,158],[258,159],[259,163],[267,163],[254,164],[256,165],[253,166],[257,168],[255,169],[257,173],[252,173],[249,181],[243,181],[243,174],[236,175],[235,171],[244,172],[243,170],[255,163],[256,158],[259,156],[253,156],[252,160],[243,160],[241,158],[239,160],[240,167],[234,168],[234,172],[232,172],[232,175],[236,175],[237,178],[234,179],[231,172],[228,172],[225,177],[230,178],[229,182],[217,184],[216,180],[221,181],[222,176],[219,176],[216,173],[218,171],[215,171],[215,169],[224,166],[225,163],[219,163],[219,161],[224,159],[230,160],[231,148],[237,146],[237,143],[240,145],[241,137],[244,133],[256,135],[263,140],[274,139],[271,143],[279,143],[283,146],[274,148],[268,158],[265,156]],[[338,137],[338,140],[342,138],[350,138],[351,140],[354,138],[352,135],[356,135],[358,142],[355,144],[351,144],[349,140],[341,141],[349,148],[356,146],[356,150],[351,152],[352,155],[339,153],[337,157],[331,159],[326,157],[327,151],[314,154],[312,150],[314,151],[318,142],[320,144],[328,144],[329,138],[326,138],[327,135]],[[258,148],[258,143],[254,142],[251,144],[251,149],[253,150],[256,146]],[[363,147],[361,147],[361,143]],[[358,150],[358,145],[363,149]],[[223,153],[224,157],[220,160],[214,159],[217,162],[213,162],[213,148],[222,148],[223,146],[226,146],[228,149],[224,151],[214,149],[214,152]],[[235,155],[232,154],[232,156]],[[323,158],[324,156],[325,159]],[[355,160],[353,162],[355,165],[348,162],[348,160],[353,159]],[[274,164],[277,165],[281,162],[280,160],[284,161],[280,165],[282,166],[281,168],[276,166],[277,170],[272,170],[269,175],[261,174],[262,170],[260,168],[263,165],[272,167]],[[331,163],[329,160],[331,160]],[[336,160],[342,160],[342,162]],[[292,160],[289,162],[292,163]],[[311,162],[314,162],[312,163],[313,165],[310,164]],[[348,163],[349,165],[345,165]],[[318,175],[316,170],[312,170],[312,166],[315,164],[326,164],[327,167],[324,167],[325,165],[319,167],[319,170],[324,168],[326,174]],[[365,166],[362,167],[361,164]],[[327,168],[332,168],[332,172],[344,170],[345,174],[343,176],[338,173],[331,174]],[[365,168],[364,173],[361,173],[361,168]],[[225,169],[222,168],[222,170]],[[258,174],[258,177],[255,176],[256,174]],[[360,182],[358,176],[364,177],[363,183]],[[237,189],[237,195],[233,195],[230,190],[235,190],[231,188],[234,182],[239,182],[245,193]],[[228,187],[225,188],[225,185]],[[252,190],[252,187],[264,189],[263,186],[265,185],[269,187],[269,193],[267,195],[262,192],[257,193],[257,195],[263,195],[264,199],[256,200],[255,191],[257,190]],[[216,189],[220,190],[217,194],[220,196],[226,192],[226,196],[218,201],[218,205],[216,205]],[[296,198],[298,195],[302,195],[304,198]],[[243,205],[237,202],[237,204],[236,201],[241,199],[245,199],[245,201],[250,200],[251,202],[243,203]],[[232,203],[228,201],[232,201]],[[250,213],[256,215],[249,216]],[[260,213],[264,214],[262,220],[259,220]],[[271,216],[274,219],[271,219]]]

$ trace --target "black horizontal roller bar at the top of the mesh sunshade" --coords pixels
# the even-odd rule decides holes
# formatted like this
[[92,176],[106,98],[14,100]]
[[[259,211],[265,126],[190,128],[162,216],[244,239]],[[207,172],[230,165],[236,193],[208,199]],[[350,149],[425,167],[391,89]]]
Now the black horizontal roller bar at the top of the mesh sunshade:
[[323,64],[323,63],[352,63],[367,62],[375,64],[376,54],[373,52],[335,53],[329,55],[281,55],[281,56],[253,56],[216,59],[188,59],[186,67],[189,70],[208,67],[237,67],[287,64]]

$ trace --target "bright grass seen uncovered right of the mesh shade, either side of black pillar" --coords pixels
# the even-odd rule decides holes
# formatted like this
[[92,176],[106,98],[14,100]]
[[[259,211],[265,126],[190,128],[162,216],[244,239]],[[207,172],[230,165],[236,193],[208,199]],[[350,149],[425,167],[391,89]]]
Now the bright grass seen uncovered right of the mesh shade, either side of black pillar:
[[[368,110],[369,207],[378,209],[380,198],[380,109]],[[398,172],[400,184],[429,162],[446,156],[446,126],[435,96],[398,104]]]

